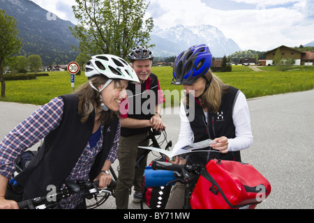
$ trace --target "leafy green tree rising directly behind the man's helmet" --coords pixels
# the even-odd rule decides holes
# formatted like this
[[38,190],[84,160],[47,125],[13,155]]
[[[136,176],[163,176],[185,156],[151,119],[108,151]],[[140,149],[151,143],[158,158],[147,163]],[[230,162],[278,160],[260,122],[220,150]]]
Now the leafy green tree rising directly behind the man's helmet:
[[[126,58],[137,45],[147,45],[153,19],[144,20],[145,0],[76,0],[73,13],[78,23],[70,27],[80,41],[80,51],[92,56],[114,54]],[[149,46],[151,47],[151,46]]]

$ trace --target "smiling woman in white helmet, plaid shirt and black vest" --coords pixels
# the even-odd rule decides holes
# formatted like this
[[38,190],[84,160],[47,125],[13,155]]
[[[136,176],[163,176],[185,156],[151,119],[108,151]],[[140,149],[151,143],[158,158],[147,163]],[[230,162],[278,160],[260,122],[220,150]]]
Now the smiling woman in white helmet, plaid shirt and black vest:
[[[23,199],[46,196],[48,185],[66,180],[99,180],[109,185],[108,172],[117,159],[119,103],[128,82],[139,82],[133,68],[118,56],[92,56],[85,75],[89,82],[70,95],[53,98],[17,125],[0,143],[0,208],[17,208],[6,199],[8,178],[18,155],[45,138],[43,145],[15,180]],[[70,201],[70,202],[68,202]],[[61,208],[85,208],[84,198],[70,197]]]

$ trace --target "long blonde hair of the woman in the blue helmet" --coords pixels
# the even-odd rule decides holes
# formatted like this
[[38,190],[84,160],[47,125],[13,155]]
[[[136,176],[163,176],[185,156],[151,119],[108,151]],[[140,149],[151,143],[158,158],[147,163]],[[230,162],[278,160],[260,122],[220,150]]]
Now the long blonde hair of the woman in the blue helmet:
[[[223,82],[211,72],[209,69],[207,73],[203,76],[207,81],[211,78],[211,84],[209,88],[200,95],[199,101],[202,108],[209,109],[209,112],[216,113],[221,105],[221,96],[223,93],[227,93],[230,89],[230,85],[223,84]],[[188,100],[186,100],[188,102]]]

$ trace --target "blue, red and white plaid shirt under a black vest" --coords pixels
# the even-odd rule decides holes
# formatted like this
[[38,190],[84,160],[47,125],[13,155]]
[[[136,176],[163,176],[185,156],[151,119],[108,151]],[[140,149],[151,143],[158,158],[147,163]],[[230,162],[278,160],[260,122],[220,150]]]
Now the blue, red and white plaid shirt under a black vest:
[[[36,144],[40,139],[47,136],[61,123],[63,114],[62,98],[53,98],[46,105],[36,110],[29,118],[17,125],[0,143],[0,174],[10,178],[15,171],[15,160],[17,156],[26,151],[27,148]],[[118,141],[120,137],[120,122],[116,136],[107,160],[114,162],[117,159]],[[103,125],[101,125],[101,137],[94,148],[90,148],[89,143],[84,148],[82,155],[73,167],[67,180],[76,182],[77,180],[88,180],[89,171],[94,164],[96,155],[103,145]],[[74,208],[80,201],[70,203],[63,208]]]

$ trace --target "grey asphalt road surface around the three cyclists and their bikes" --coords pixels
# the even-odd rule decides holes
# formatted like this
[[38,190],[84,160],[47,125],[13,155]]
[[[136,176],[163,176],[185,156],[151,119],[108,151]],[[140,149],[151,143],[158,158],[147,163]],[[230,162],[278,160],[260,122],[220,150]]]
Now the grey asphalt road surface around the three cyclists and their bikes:
[[[0,138],[37,107],[0,102]],[[242,160],[253,164],[271,183],[271,194],[257,208],[313,209],[314,90],[251,99],[248,107],[254,141],[241,152]],[[177,107],[162,113],[167,139],[173,143],[179,134],[178,114]],[[114,168],[117,165],[115,162]],[[114,199],[100,208],[114,209]],[[130,201],[129,208],[140,205]]]

